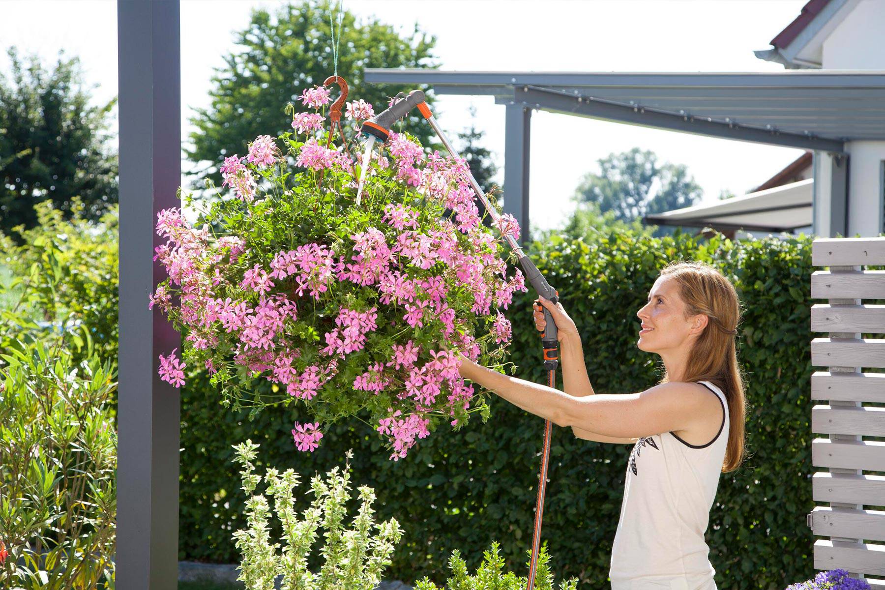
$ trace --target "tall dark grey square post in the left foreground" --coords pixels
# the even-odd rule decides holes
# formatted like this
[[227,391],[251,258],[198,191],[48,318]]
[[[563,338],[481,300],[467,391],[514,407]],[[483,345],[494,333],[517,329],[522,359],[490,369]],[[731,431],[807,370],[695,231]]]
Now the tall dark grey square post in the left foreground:
[[160,381],[158,355],[181,346],[148,295],[157,213],[180,206],[179,0],[118,0],[119,466],[117,587],[178,585],[179,392]]

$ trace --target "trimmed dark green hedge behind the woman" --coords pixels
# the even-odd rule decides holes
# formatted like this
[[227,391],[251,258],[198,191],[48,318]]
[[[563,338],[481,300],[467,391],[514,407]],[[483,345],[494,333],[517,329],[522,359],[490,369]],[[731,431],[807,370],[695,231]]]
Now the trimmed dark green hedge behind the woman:
[[[716,581],[727,588],[783,588],[812,575],[810,281],[811,239],[701,241],[686,234],[631,234],[592,242],[553,237],[535,243],[538,266],[557,287],[581,330],[597,392],[629,393],[656,383],[657,357],[635,347],[638,319],[658,271],[674,259],[708,261],[735,281],[746,308],[740,354],[749,381],[744,466],[720,480],[708,542]],[[530,320],[534,296],[509,310],[516,374],[543,382],[540,342]],[[259,458],[304,474],[343,464],[354,448],[354,482],[376,489],[379,517],[396,517],[404,541],[391,579],[424,575],[443,583],[452,549],[470,568],[492,540],[508,567],[521,571],[530,544],[543,422],[495,398],[492,416],[459,433],[438,432],[405,460],[388,461],[368,425],[339,425],[312,455],[295,451],[295,414],[267,410],[253,422],[223,410],[205,382],[182,392],[181,558],[237,560],[231,533],[244,500],[230,463],[231,445],[251,438]],[[589,587],[607,579],[620,514],[627,445],[581,441],[555,428],[543,538],[551,566]]]

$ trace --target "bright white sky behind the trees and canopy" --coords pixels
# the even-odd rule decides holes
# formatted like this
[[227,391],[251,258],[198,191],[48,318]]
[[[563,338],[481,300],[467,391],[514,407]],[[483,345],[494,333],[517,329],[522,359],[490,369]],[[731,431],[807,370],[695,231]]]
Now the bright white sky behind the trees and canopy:
[[[254,7],[280,2],[181,0],[182,137],[194,107],[209,103],[212,68],[234,50],[233,31]],[[359,16],[376,15],[410,32],[435,34],[444,70],[579,72],[776,72],[752,50],[768,42],[799,13],[804,0],[344,0]],[[48,63],[58,50],[81,57],[85,79],[97,84],[96,102],[117,93],[117,4],[114,0],[0,0],[0,48],[16,45]],[[0,71],[8,71],[0,57]],[[491,97],[441,96],[441,125],[455,134],[469,125],[469,106],[485,144],[504,157],[504,106]],[[704,188],[743,194],[802,152],[710,139],[639,126],[535,111],[532,117],[532,225],[558,226],[573,209],[571,196],[596,160],[633,147],[685,164]],[[503,181],[503,172],[498,181]]]

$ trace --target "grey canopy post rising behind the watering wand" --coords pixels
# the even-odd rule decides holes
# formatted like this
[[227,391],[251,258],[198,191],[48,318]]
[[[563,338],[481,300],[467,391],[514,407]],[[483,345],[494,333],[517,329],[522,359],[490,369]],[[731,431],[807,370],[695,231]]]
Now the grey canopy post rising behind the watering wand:
[[508,103],[504,126],[504,213],[522,228],[520,241],[528,238],[528,156],[531,146],[532,110],[524,103]]

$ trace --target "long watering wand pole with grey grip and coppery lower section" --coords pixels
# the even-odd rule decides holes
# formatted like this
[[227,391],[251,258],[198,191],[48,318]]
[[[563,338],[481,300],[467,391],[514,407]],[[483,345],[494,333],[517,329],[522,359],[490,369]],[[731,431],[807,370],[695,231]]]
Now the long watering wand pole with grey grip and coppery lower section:
[[[430,123],[430,126],[433,127],[436,135],[440,138],[440,141],[443,142],[445,148],[449,151],[452,156],[460,158],[458,154],[458,150],[452,146],[449,142],[449,139],[443,133],[443,130],[440,128],[439,124],[436,122],[435,117],[432,114],[429,114],[429,109],[427,113],[422,111],[427,122]],[[489,203],[489,197],[485,194],[485,192],[480,188],[479,183],[473,178],[473,173],[470,172],[470,169],[467,168],[467,178],[470,180],[470,185],[473,187],[473,191],[480,198],[480,201],[486,207],[486,211],[489,211],[489,215],[491,215],[494,221],[497,221],[500,216],[497,214],[496,209]],[[526,278],[531,283],[532,287],[535,287],[535,291],[537,291],[538,295],[543,295],[546,299],[549,299],[552,303],[556,304],[558,302],[558,292],[550,287],[547,280],[543,278],[541,272],[538,271],[535,264],[525,255],[522,251],[522,248],[519,247],[519,243],[516,239],[510,235],[504,235],[504,240],[507,241],[507,244],[517,253],[519,256],[519,264],[522,266],[523,270],[526,272]],[[558,339],[557,339],[557,328],[556,323],[553,321],[552,316],[550,315],[550,311],[544,309],[544,319],[546,321],[546,326],[543,333],[543,363],[544,368],[547,370],[547,385],[549,387],[556,387],[556,370],[559,364],[559,347],[558,347]],[[543,511],[544,511],[544,494],[547,490],[547,466],[550,462],[550,436],[552,434],[553,425],[550,420],[544,420],[544,441],[543,447],[541,451],[541,472],[538,474],[538,497],[535,502],[535,527],[534,532],[532,533],[532,559],[528,565],[528,584],[527,590],[532,590],[535,587],[535,573],[537,570],[537,562],[538,562],[538,553],[541,548],[541,524],[543,520]]]

